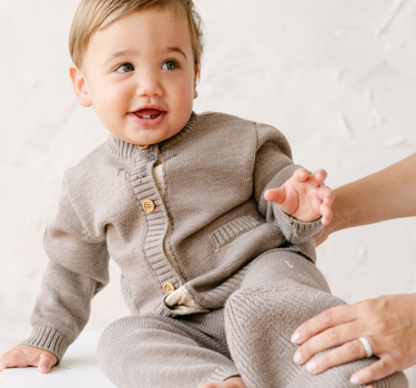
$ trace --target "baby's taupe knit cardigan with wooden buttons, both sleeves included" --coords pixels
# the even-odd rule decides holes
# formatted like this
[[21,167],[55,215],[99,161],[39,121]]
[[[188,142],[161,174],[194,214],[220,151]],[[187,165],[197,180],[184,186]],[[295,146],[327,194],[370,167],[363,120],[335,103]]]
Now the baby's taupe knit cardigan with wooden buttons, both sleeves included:
[[[159,150],[158,150],[159,149]],[[152,169],[163,156],[163,202]],[[55,218],[44,234],[49,256],[22,341],[60,360],[87,325],[91,299],[109,283],[110,256],[133,315],[177,316],[164,299],[184,289],[209,313],[224,306],[250,263],[271,249],[315,262],[311,237],[321,221],[296,221],[265,201],[294,171],[276,129],[222,113],[192,113],[171,139],[142,150],[112,135],[65,172]],[[149,212],[144,202],[153,204]],[[163,239],[169,219],[170,252]],[[184,279],[184,283],[183,280]]]

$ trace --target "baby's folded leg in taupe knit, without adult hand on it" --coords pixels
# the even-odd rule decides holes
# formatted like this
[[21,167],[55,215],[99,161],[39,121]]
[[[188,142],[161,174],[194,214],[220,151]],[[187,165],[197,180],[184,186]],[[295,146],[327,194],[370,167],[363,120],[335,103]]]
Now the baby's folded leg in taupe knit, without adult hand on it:
[[169,317],[116,320],[100,338],[98,359],[120,388],[199,388],[239,375],[225,344]]

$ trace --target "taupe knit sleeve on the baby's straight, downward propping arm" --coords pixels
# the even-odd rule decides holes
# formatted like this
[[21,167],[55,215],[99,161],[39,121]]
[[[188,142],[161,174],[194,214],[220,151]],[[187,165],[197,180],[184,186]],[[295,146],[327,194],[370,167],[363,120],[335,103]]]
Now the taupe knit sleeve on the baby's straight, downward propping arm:
[[105,238],[92,238],[67,192],[44,233],[49,263],[31,315],[31,336],[22,345],[54,354],[61,360],[90,317],[91,299],[109,283]]

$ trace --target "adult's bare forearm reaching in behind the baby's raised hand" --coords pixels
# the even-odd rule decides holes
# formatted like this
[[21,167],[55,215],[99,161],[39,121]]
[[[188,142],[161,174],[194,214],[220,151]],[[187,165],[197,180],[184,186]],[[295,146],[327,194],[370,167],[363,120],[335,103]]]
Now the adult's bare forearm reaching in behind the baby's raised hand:
[[416,154],[335,190],[333,218],[315,235],[316,245],[347,227],[416,216]]

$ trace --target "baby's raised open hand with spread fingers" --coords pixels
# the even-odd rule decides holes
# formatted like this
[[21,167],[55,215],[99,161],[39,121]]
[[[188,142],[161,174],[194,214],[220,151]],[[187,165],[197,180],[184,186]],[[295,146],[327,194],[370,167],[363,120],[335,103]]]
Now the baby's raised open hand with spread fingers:
[[283,186],[267,190],[264,197],[298,221],[311,222],[322,216],[322,224],[327,225],[335,194],[329,187],[321,186],[326,175],[325,170],[317,170],[312,175],[305,169],[296,170]]

